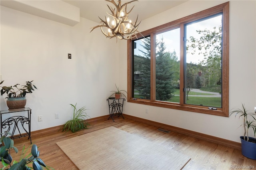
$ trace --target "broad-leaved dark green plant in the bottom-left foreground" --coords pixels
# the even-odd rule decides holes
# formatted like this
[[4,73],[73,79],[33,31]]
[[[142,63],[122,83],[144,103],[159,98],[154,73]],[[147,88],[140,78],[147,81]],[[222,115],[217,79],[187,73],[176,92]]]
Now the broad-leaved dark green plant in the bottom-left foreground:
[[[49,170],[49,166],[46,166],[42,159],[39,158],[39,150],[36,144],[30,145],[26,150],[23,146],[22,154],[19,162],[14,160],[12,163],[11,149],[18,153],[18,149],[14,146],[14,141],[7,135],[11,135],[10,132],[6,131],[1,133],[1,163],[0,170],[42,170],[43,167]],[[24,157],[26,151],[31,147],[31,153]],[[32,166],[31,166],[32,165]],[[8,168],[9,167],[9,168]],[[53,169],[53,168],[50,168]]]

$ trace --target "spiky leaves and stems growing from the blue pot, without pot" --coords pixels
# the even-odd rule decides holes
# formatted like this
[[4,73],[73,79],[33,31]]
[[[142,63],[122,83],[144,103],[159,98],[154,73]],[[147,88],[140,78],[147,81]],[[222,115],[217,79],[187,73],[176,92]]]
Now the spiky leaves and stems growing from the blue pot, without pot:
[[249,136],[248,136],[249,128],[253,129],[254,136],[256,134],[256,113],[249,113],[249,111],[245,109],[244,104],[242,104],[242,109],[233,110],[231,111],[230,115],[232,115],[233,113],[235,113],[236,116],[238,115],[239,118],[241,117],[243,119],[243,124],[240,126],[244,127],[244,140],[246,140],[245,137],[247,136],[247,141],[249,141]]

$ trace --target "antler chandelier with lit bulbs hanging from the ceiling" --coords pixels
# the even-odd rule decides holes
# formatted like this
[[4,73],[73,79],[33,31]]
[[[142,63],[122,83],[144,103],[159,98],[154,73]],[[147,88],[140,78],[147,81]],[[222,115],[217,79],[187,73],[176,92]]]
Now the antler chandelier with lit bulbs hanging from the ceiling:
[[[138,32],[137,31],[138,25],[140,24],[141,21],[137,24],[138,15],[135,22],[132,22],[132,20],[128,19],[128,14],[130,14],[134,6],[129,12],[127,12],[127,5],[130,4],[131,2],[138,1],[138,0],[132,0],[130,2],[126,2],[123,5],[121,5],[121,0],[118,0],[118,3],[116,3],[114,0],[106,0],[106,1],[111,2],[116,7],[113,9],[107,4],[111,12],[110,14],[107,12],[107,14],[110,16],[111,19],[109,17],[106,18],[105,16],[105,20],[102,20],[99,17],[101,20],[100,25],[94,26],[91,29],[94,30],[95,28],[100,27],[101,32],[106,36],[106,38],[116,37],[116,40],[117,38],[119,38],[120,40],[122,39],[128,40],[132,38],[132,35],[136,37],[135,32]],[[92,32],[92,30],[90,32]]]

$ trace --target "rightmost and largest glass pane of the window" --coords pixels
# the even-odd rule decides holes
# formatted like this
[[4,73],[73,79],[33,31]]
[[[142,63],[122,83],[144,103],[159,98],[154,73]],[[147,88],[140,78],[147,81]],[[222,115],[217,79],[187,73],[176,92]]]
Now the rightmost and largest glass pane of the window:
[[184,103],[222,108],[222,13],[184,25]]

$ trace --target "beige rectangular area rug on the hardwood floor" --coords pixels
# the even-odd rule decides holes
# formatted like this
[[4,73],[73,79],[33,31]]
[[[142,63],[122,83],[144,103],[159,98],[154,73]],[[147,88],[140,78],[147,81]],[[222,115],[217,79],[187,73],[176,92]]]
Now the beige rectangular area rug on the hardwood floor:
[[190,160],[175,150],[115,127],[57,144],[80,170],[177,170]]

